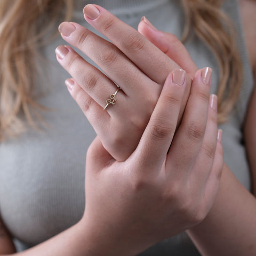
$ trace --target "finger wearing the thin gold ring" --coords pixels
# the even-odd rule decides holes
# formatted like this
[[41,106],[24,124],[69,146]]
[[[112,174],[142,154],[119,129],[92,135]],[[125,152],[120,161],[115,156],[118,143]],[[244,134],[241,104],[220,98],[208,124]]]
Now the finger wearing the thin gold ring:
[[[109,95],[116,92],[116,85],[101,71],[85,61],[71,47],[60,45],[56,49],[56,54],[60,65],[75,79],[80,88],[89,94],[98,105],[102,108],[105,107]],[[82,91],[79,91],[79,95],[81,93]],[[118,92],[118,99],[125,103],[126,97],[122,91]],[[111,108],[108,111],[111,113]],[[115,109],[114,113],[115,115],[123,115],[122,108]],[[84,111],[84,114],[87,116],[86,111]]]

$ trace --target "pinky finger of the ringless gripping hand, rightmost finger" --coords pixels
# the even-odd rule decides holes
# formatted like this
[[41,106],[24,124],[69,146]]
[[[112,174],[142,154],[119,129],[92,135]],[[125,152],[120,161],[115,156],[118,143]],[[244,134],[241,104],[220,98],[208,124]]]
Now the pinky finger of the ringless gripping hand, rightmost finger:
[[212,206],[214,199],[218,193],[223,164],[224,164],[221,136],[222,136],[222,130],[219,130],[218,131],[217,147],[216,147],[215,156],[213,159],[212,170],[211,170],[209,178],[206,182],[205,191],[204,191],[205,202],[211,203],[209,205],[209,210],[210,210],[210,207]]

